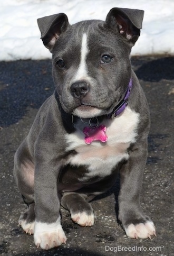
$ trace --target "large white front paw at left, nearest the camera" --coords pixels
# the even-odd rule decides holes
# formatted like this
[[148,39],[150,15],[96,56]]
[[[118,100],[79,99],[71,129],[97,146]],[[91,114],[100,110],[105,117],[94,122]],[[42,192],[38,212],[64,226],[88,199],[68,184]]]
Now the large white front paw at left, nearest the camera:
[[34,243],[37,248],[41,246],[44,250],[66,243],[66,236],[60,224],[60,218],[51,224],[35,221]]

